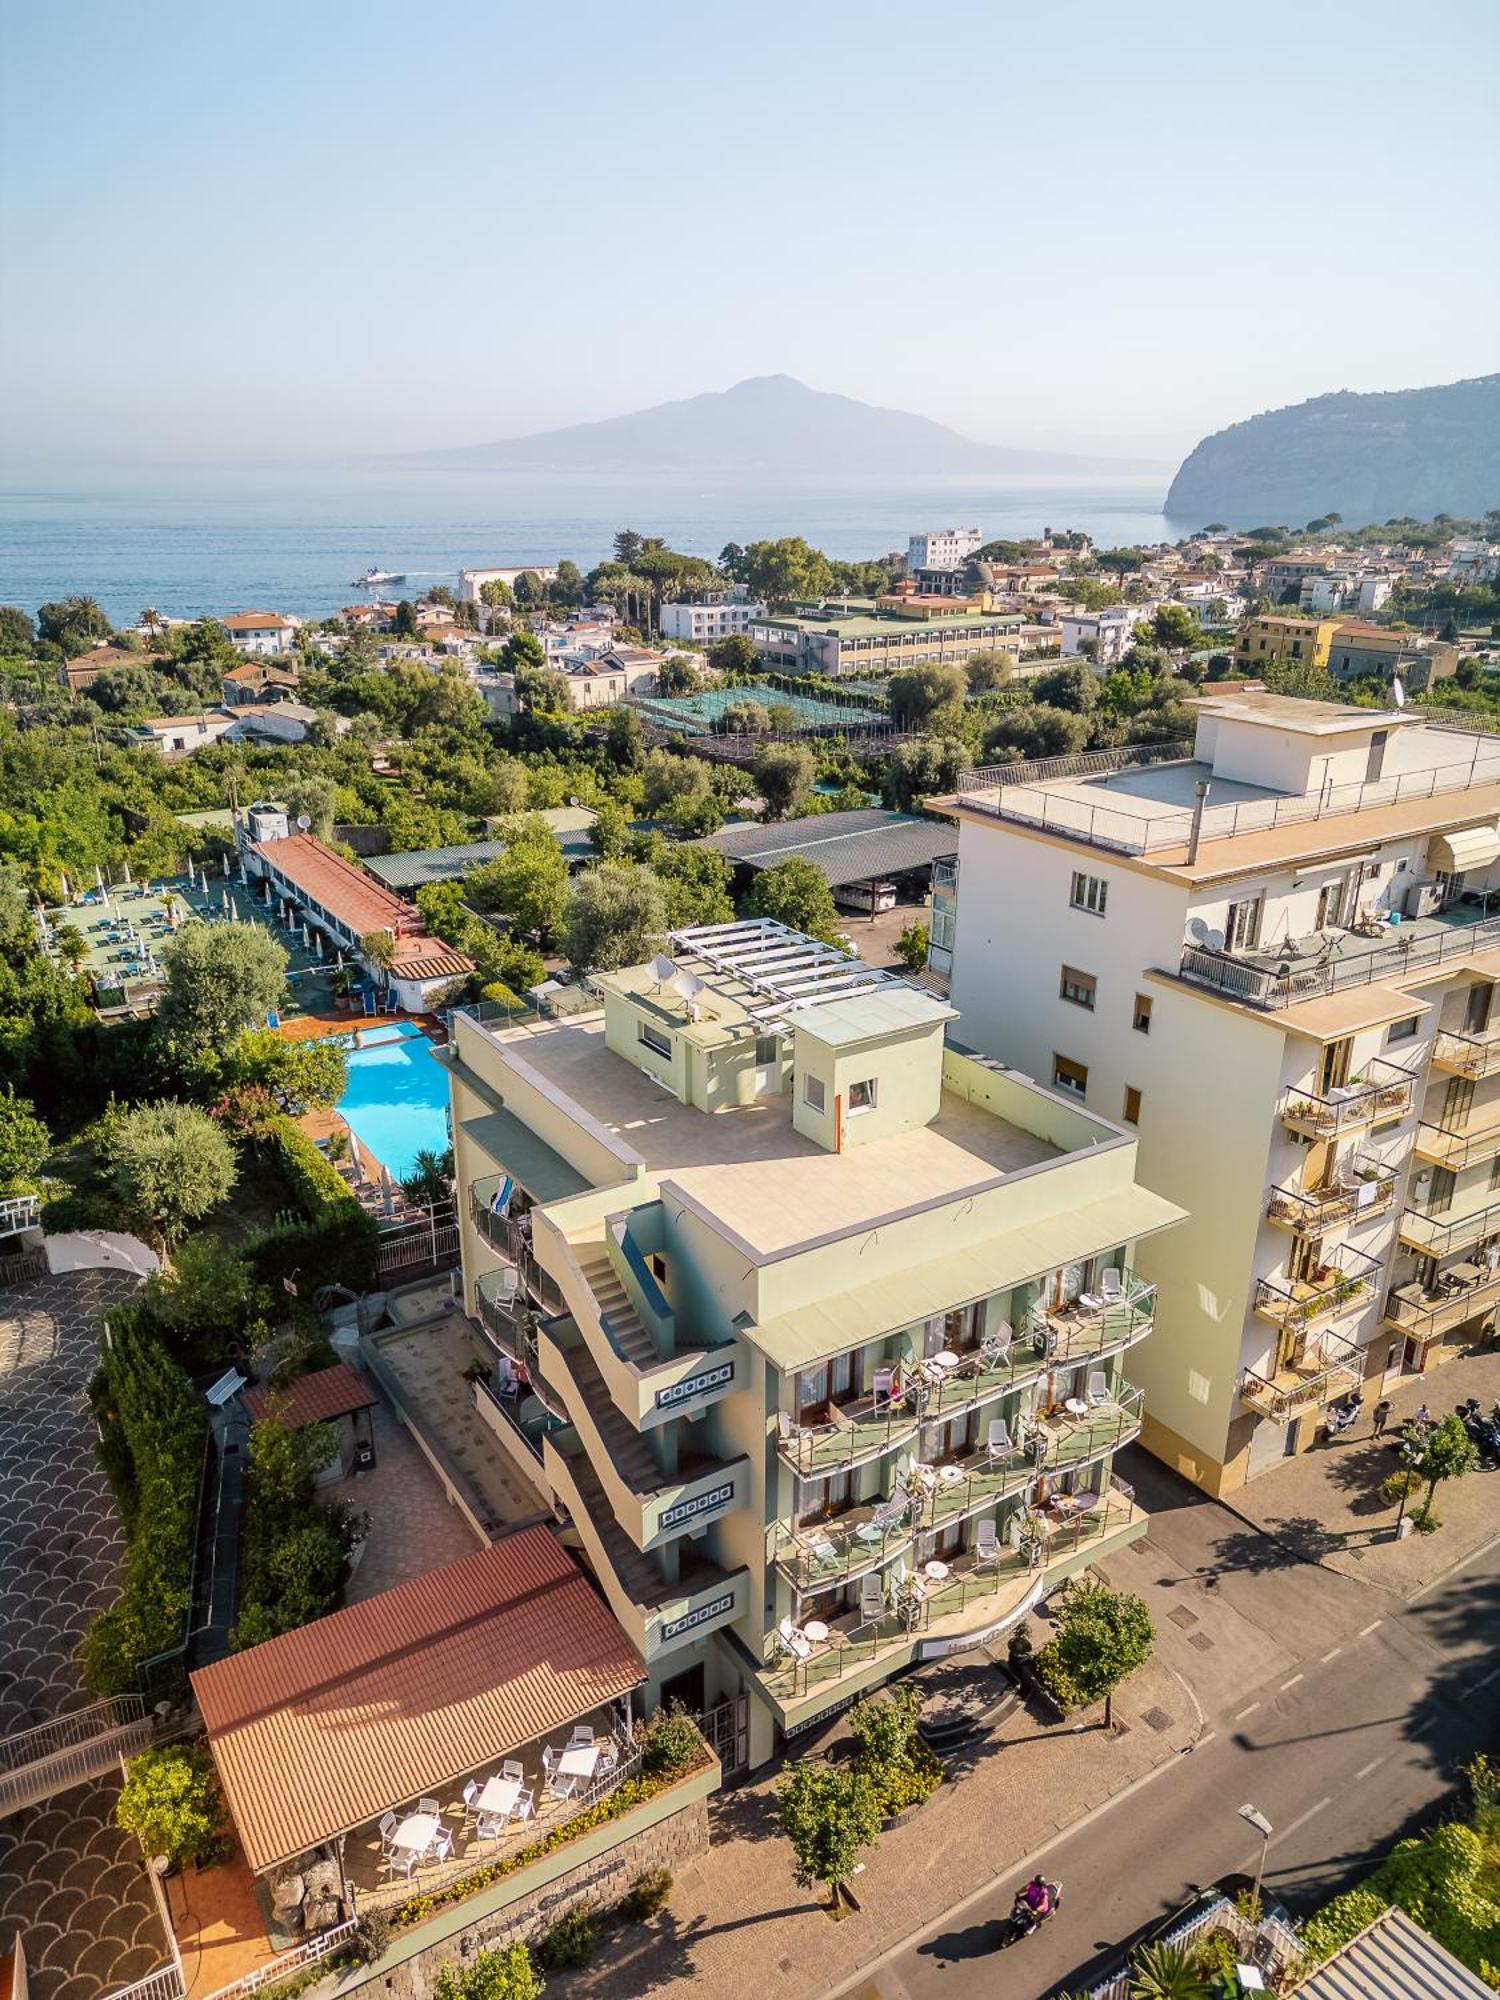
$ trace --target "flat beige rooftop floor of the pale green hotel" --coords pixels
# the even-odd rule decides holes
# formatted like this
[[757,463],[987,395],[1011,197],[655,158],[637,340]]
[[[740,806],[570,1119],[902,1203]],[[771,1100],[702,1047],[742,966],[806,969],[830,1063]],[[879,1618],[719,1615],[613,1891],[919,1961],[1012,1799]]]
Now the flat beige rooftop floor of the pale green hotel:
[[712,1114],[680,1104],[606,1048],[602,1014],[484,1032],[762,1256],[806,1242],[812,1218],[818,1236],[836,1236],[1062,1158],[1050,1140],[946,1090],[932,1124],[824,1152],[792,1128],[790,1096]]

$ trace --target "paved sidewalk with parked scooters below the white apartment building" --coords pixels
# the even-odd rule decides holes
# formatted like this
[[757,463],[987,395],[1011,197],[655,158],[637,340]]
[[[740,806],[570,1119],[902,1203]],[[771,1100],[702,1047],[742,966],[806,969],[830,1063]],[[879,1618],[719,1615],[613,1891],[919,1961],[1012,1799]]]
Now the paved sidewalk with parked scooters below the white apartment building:
[[1448,1416],[1468,1396],[1478,1396],[1488,1410],[1500,1396],[1500,1348],[1466,1354],[1426,1376],[1410,1376],[1388,1394],[1392,1418],[1386,1440],[1372,1438],[1370,1412],[1380,1398],[1366,1392],[1352,1432],[1320,1438],[1300,1458],[1288,1458],[1230,1494],[1224,1506],[1286,1542],[1304,1560],[1358,1576],[1360,1582],[1382,1584],[1406,1598],[1500,1530],[1498,1482],[1492,1468],[1480,1466],[1468,1478],[1442,1484],[1436,1498],[1442,1528],[1396,1542],[1396,1508],[1380,1498],[1380,1482],[1396,1470],[1392,1440],[1424,1402],[1436,1418]]

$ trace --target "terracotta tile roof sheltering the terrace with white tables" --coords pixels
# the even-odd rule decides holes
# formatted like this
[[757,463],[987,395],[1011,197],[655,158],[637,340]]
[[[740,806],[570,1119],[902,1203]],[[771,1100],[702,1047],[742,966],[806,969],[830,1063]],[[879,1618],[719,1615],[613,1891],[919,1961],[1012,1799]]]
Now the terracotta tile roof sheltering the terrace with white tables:
[[546,1528],[192,1676],[260,1874],[626,1694],[640,1654]]

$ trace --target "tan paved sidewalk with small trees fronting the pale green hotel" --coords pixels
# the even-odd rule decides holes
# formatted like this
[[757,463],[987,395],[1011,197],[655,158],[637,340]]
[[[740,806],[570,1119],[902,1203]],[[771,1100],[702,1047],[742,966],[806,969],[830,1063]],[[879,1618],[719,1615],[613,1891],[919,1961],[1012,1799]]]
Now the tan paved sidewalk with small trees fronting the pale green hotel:
[[[1034,1632],[1040,1640],[1046,1622],[1036,1620]],[[850,1884],[860,1910],[840,1922],[824,1914],[822,1892],[800,1890],[792,1878],[792,1850],[772,1820],[776,1778],[746,1784],[714,1802],[714,1844],[678,1876],[670,1908],[646,1926],[612,1932],[592,1966],[548,1974],[548,1994],[676,1994],[690,1980],[708,1994],[802,2000],[826,1992],[1174,1762],[1198,1736],[1192,1698],[1156,1660],[1116,1694],[1114,1736],[1104,1736],[1100,1720],[1102,1710],[1090,1710],[1084,1728],[1046,1724],[1020,1708],[992,1738],[950,1756],[948,1782],[868,1854]]]

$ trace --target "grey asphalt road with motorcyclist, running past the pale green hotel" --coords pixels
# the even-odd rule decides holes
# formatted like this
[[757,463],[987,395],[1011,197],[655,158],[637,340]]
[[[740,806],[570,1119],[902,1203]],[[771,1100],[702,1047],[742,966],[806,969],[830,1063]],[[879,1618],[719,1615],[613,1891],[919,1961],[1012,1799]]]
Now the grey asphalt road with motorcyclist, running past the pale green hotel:
[[[1234,1714],[1210,1714],[1194,1750],[1040,1850],[1042,1872],[1064,1884],[1040,1932],[994,1950],[998,1920],[1032,1874],[1022,1866],[840,1992],[1042,2000],[1086,1988],[1198,1886],[1254,1874],[1260,1838],[1238,1818],[1242,1802],[1272,1822],[1266,1888],[1294,1914],[1352,1886],[1392,1840],[1432,1820],[1462,1764],[1500,1748],[1500,1544],[1406,1606],[1384,1592],[1358,1600],[1358,1584],[1312,1564],[1296,1588],[1326,1590],[1330,1610],[1338,1600],[1332,1628],[1306,1626],[1324,1650],[1288,1660],[1278,1648],[1276,1674],[1246,1688]],[[1368,1614],[1364,1626],[1348,1624],[1350,1604]]]

